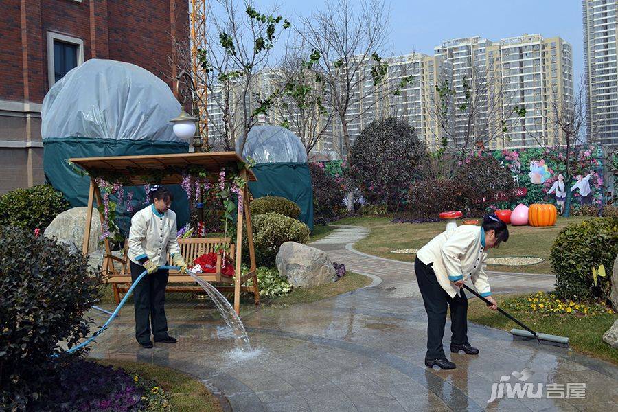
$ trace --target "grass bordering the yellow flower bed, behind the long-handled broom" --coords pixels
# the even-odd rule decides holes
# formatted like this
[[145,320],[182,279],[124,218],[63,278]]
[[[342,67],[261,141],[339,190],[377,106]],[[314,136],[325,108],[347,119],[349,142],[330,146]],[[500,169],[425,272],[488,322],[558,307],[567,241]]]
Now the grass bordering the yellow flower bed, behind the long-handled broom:
[[[494,296],[499,306],[505,301],[522,295]],[[618,314],[588,314],[586,317],[577,317],[573,314],[516,314],[532,330],[558,336],[568,336],[569,346],[584,354],[590,354],[618,365],[618,350],[613,349],[602,339]],[[487,325],[492,328],[511,330],[521,329],[519,325],[494,310],[489,310],[481,299],[470,299],[468,304],[468,321]]]

